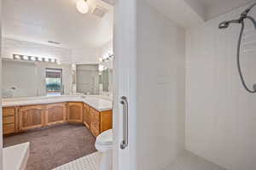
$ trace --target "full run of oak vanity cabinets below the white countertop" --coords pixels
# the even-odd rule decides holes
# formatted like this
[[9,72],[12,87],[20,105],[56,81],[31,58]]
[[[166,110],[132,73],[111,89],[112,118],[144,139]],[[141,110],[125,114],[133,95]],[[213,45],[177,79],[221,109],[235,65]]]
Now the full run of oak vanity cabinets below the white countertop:
[[3,107],[3,134],[62,122],[84,122],[96,137],[112,128],[112,110],[96,111],[82,102]]

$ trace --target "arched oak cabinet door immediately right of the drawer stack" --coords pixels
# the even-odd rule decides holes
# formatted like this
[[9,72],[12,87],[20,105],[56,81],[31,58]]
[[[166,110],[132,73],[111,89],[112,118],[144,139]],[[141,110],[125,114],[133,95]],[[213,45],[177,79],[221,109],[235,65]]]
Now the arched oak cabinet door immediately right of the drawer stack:
[[20,130],[44,126],[44,110],[42,105],[20,107]]

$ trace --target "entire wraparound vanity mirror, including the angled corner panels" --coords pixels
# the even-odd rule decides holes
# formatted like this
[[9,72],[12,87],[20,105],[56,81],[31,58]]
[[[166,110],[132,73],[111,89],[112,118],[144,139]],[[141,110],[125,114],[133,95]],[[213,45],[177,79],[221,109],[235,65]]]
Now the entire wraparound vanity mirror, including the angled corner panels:
[[113,70],[98,64],[57,64],[3,59],[3,98],[46,95],[110,95]]

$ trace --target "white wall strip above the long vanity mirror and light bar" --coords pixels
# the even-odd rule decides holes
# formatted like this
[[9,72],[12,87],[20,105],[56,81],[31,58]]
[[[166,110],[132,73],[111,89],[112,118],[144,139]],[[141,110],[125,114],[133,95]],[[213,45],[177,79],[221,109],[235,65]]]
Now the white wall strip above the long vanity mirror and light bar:
[[60,48],[37,42],[25,42],[3,37],[3,58],[12,59],[13,54],[54,58],[64,64],[97,64],[99,48]]

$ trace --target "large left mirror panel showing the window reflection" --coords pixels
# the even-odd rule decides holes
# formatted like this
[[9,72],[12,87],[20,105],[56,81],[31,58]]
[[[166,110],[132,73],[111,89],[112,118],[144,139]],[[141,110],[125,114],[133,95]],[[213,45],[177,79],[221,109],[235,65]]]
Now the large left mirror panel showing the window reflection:
[[73,94],[72,65],[3,59],[3,98]]

